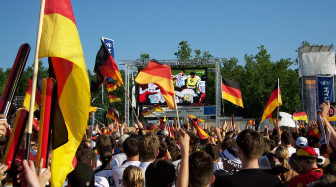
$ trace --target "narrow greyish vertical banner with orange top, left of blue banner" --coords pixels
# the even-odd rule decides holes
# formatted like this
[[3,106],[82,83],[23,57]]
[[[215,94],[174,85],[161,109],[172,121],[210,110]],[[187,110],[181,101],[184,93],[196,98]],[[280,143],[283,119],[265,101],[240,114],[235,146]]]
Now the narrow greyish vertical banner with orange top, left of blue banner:
[[305,108],[308,121],[316,121],[316,78],[314,76],[304,77],[305,82]]

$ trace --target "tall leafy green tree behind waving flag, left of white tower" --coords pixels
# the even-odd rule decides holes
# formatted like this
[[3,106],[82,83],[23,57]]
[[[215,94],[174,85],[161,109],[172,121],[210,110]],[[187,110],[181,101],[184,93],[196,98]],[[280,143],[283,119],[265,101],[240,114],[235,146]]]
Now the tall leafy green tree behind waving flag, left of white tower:
[[289,68],[294,62],[290,59],[271,62],[271,55],[264,46],[261,45],[258,49],[258,54],[244,56],[245,71],[240,82],[244,103],[243,116],[261,118],[277,78],[280,79],[283,103],[280,110],[292,113],[293,109],[300,108],[298,74]]

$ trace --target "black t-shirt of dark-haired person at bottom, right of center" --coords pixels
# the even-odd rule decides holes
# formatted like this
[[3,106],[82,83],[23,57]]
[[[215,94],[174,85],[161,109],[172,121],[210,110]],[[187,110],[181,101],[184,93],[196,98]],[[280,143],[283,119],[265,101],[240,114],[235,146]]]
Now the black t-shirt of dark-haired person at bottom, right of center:
[[215,179],[214,187],[282,187],[280,179],[261,169],[242,169]]

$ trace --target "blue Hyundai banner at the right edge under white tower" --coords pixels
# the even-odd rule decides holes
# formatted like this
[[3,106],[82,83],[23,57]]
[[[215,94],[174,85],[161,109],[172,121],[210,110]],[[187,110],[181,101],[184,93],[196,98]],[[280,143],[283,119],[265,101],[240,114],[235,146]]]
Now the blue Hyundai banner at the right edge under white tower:
[[335,101],[334,76],[317,77],[318,105],[323,102]]

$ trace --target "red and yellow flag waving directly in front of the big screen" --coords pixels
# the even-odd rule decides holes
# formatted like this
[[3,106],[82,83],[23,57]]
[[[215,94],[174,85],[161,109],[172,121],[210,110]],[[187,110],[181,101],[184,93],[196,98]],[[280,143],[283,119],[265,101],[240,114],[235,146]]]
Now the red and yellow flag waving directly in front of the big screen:
[[141,70],[135,81],[139,84],[155,83],[160,88],[163,98],[166,100],[168,108],[175,108],[175,91],[172,80],[172,72],[168,65],[161,64],[156,60],[151,60],[147,67]]

